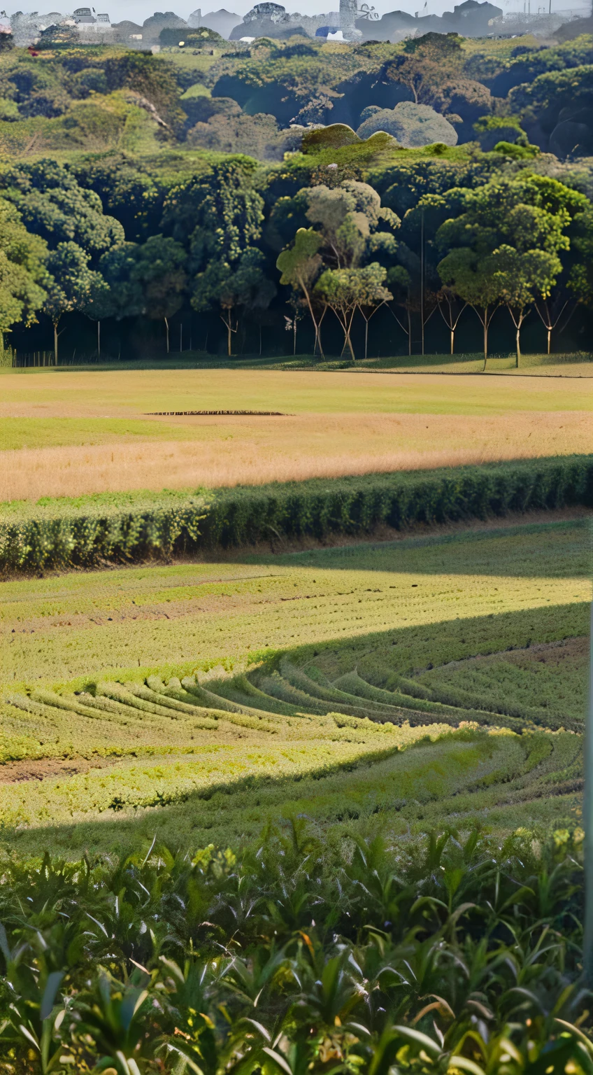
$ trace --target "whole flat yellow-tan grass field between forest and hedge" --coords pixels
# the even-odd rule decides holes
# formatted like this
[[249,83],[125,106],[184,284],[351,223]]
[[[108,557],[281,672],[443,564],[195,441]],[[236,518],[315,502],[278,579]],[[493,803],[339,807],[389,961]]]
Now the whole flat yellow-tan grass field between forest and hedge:
[[[1,389],[1,500],[568,455],[593,431],[581,378],[41,371]],[[154,415],[194,410],[283,416]]]

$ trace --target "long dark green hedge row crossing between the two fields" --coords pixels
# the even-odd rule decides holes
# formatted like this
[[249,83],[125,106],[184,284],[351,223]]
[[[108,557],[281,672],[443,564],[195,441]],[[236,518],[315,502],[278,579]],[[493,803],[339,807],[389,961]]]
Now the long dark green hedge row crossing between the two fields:
[[169,557],[379,525],[593,504],[593,456],[219,489],[101,493],[0,508],[0,569],[40,571]]

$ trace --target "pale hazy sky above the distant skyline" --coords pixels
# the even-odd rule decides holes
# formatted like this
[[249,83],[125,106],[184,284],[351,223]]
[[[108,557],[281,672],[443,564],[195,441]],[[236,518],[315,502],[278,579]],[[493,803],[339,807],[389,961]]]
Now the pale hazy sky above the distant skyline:
[[[70,0],[68,8],[60,0],[56,0],[55,6],[53,3],[47,5],[43,0],[37,0],[38,11],[40,13],[45,13],[49,11],[61,11],[63,14],[68,14],[78,4],[92,4],[92,0]],[[97,11],[107,12],[114,23],[119,23],[121,19],[129,18],[134,23],[142,25],[145,18],[151,15],[155,8],[151,6],[151,2],[155,0],[99,0],[97,5],[97,0],[95,4],[97,5]],[[158,0],[157,0],[158,2]],[[231,11],[238,16],[243,16],[247,11],[249,11],[256,0],[169,0],[169,3],[164,2],[163,8],[165,10],[173,10],[182,18],[187,18],[192,11],[197,8],[201,8],[202,15],[207,14],[211,11],[218,11],[220,8],[225,6],[227,11]],[[280,2],[280,0],[277,0]],[[359,6],[362,0],[359,0]],[[426,6],[423,8],[424,0],[368,0],[368,5],[374,6],[379,15],[385,14],[388,11],[407,11],[414,14],[415,11],[421,11],[424,15],[442,15],[444,11],[451,11],[455,3],[461,2],[461,0],[428,0]],[[491,0],[492,3],[496,3],[497,6],[502,8],[504,12],[511,11],[523,11],[523,0]],[[531,2],[531,10],[536,13],[538,9],[548,11],[549,0],[526,0]],[[315,15],[318,12],[331,12],[337,11],[339,8],[339,0],[285,0],[286,10],[289,12],[299,11],[303,15]],[[588,0],[552,0],[552,12],[566,12],[569,17],[569,12],[573,11],[575,14],[583,13],[583,9],[590,8]],[[8,9],[9,13],[12,11],[11,8]],[[27,0],[15,4],[14,10],[30,11]]]

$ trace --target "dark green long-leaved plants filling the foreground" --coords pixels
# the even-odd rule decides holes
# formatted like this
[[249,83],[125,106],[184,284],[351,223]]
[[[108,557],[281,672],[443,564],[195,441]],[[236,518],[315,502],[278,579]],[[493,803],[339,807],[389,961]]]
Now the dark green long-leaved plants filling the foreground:
[[6,862],[0,1071],[590,1075],[581,836]]

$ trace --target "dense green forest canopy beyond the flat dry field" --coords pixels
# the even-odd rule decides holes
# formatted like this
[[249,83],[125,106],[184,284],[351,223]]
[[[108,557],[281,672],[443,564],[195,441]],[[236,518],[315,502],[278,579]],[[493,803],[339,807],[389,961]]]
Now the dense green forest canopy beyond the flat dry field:
[[[254,95],[271,86],[277,94],[283,64],[292,70],[293,89],[306,84],[309,104],[315,101],[310,95],[322,51],[314,45],[264,41],[258,48],[223,54],[213,87],[193,82],[186,89],[190,78],[204,73],[199,67],[175,68],[173,54],[171,59],[146,54],[101,59],[101,49],[69,46],[44,59],[43,54],[24,58],[16,56],[20,51],[9,51],[0,64],[1,91],[6,95],[4,112],[12,106],[18,115],[5,116],[0,127],[19,127],[26,120],[18,117],[27,110],[31,121],[35,109],[39,118],[61,106],[59,118],[66,124],[73,110],[63,100],[60,105],[57,84],[52,89],[39,82],[40,73],[55,81],[58,71],[63,92],[78,94],[96,111],[106,106],[110,90],[112,96],[131,95],[130,106],[143,110],[157,141],[150,153],[115,145],[20,159],[18,153],[4,154],[0,332],[41,319],[53,326],[54,360],[59,361],[67,315],[77,313],[96,322],[98,350],[101,322],[134,318],[160,322],[169,350],[171,319],[185,310],[216,321],[221,330],[223,325],[229,355],[246,325],[288,330],[291,338],[285,339],[292,339],[295,350],[302,322],[315,354],[323,356],[328,329],[335,347],[339,327],[343,354],[355,359],[363,353],[366,357],[377,311],[389,313],[402,349],[410,353],[419,345],[424,349],[433,318],[446,325],[453,353],[460,319],[471,313],[487,354],[492,318],[504,309],[518,360],[527,315],[539,318],[548,350],[553,349],[554,333],[579,307],[587,319],[593,303],[587,124],[578,116],[566,118],[566,105],[564,113],[556,110],[563,92],[569,94],[572,106],[582,105],[593,92],[588,88],[593,87],[593,64],[580,62],[593,58],[593,40],[582,37],[548,48],[517,46],[517,55],[506,59],[495,49],[491,55],[474,51],[460,67],[461,39],[437,39],[428,34],[407,51],[406,45],[360,46],[359,53],[377,55],[374,68],[358,74],[351,71],[357,48],[342,47],[331,63],[326,57],[334,81],[336,70],[342,68],[344,75],[350,66],[359,104],[378,103],[365,104],[357,116],[349,106],[346,115],[348,92],[336,91],[323,118],[336,118],[342,109],[343,119],[353,126],[322,126],[322,110],[301,114],[296,118],[309,126],[296,123],[284,131],[292,148],[286,150],[285,140],[279,160],[220,152],[216,145],[196,150],[196,141],[189,153],[184,138],[191,142],[192,130],[213,118],[221,121],[229,102],[237,129],[273,120],[283,133],[283,117],[241,109],[255,108]],[[34,67],[39,59],[45,67]],[[367,57],[365,62],[368,67]],[[269,75],[275,72],[276,83],[264,78],[264,69]],[[454,71],[457,83],[451,81]],[[443,72],[448,72],[448,89]],[[27,82],[29,74],[32,81]],[[328,71],[326,77],[331,84]],[[487,83],[506,98],[494,98]],[[190,95],[193,103],[185,104],[194,110],[192,118],[201,114],[202,119],[188,130],[184,98],[197,86],[200,94]],[[215,90],[227,96],[214,96]],[[397,121],[404,126],[408,121],[408,113],[397,112],[405,100],[389,108],[393,94],[403,90],[408,112],[424,109],[451,130],[457,124],[459,144],[435,140],[406,147],[393,138],[386,114],[403,115]],[[472,98],[473,111],[467,112]],[[522,111],[514,112],[511,104],[519,100]],[[222,111],[204,120],[207,110],[219,105]],[[466,108],[465,119],[451,113],[458,106]],[[422,115],[413,113],[409,121],[417,124]],[[45,115],[43,121],[56,118]],[[432,118],[424,118],[430,137]],[[582,143],[563,159],[546,152],[546,141],[555,138],[559,143],[562,125]],[[462,128],[467,128],[463,137]]]

